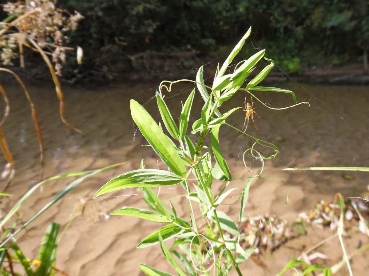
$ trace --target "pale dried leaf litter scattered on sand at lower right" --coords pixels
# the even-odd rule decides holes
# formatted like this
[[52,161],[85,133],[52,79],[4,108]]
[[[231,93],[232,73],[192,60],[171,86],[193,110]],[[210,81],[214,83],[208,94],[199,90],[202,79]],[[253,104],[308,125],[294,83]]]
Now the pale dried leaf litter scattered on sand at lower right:
[[[368,187],[369,188],[369,187]],[[347,198],[344,210],[345,229],[357,230],[367,233],[369,222],[369,191],[368,188],[362,197]],[[356,211],[358,209],[358,211]],[[359,214],[362,219],[360,219]],[[265,268],[265,263],[260,259],[260,254],[266,251],[273,251],[288,240],[307,234],[306,226],[317,226],[321,229],[330,227],[337,230],[341,206],[333,202],[319,201],[310,212],[300,213],[297,218],[288,223],[277,216],[252,216],[242,219],[240,245],[244,250],[256,248],[251,259],[259,266]],[[219,235],[219,233],[216,233]],[[232,238],[232,235],[228,233]],[[210,246],[209,246],[210,248]],[[326,259],[327,256],[316,253],[305,256],[313,261],[316,258]],[[310,262],[309,261],[309,262]]]

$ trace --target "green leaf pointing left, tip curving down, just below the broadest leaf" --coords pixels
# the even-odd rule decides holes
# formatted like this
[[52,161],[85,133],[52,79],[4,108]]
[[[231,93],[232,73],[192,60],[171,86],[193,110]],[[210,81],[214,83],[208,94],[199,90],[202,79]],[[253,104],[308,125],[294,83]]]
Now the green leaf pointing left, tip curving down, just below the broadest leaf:
[[183,178],[178,177],[176,174],[170,171],[139,169],[114,177],[96,192],[94,198],[108,192],[126,188],[168,186],[181,183],[182,181]]

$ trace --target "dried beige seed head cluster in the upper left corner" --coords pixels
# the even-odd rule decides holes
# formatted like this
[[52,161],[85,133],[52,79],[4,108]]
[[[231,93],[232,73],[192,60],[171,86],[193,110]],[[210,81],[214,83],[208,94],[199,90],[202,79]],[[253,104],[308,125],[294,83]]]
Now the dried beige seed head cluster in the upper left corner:
[[52,56],[55,63],[56,74],[61,74],[65,50],[69,49],[63,47],[68,42],[66,32],[75,29],[83,16],[77,12],[69,14],[55,6],[55,0],[26,0],[3,5],[9,16],[7,24],[0,28],[0,54],[4,65],[13,65],[12,60],[18,56],[16,50],[19,47],[22,66],[23,45],[33,49],[31,43],[27,42],[27,38],[30,38],[47,50],[46,53]]

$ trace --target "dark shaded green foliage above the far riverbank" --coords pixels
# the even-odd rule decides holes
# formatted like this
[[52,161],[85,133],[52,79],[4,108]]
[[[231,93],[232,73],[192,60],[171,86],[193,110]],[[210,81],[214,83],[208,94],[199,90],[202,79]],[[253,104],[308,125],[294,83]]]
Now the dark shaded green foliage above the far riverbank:
[[[288,72],[368,47],[369,4],[358,0],[59,0],[85,20],[73,32],[86,63],[112,65],[127,54],[197,50],[219,54],[252,25],[269,57]],[[314,38],[314,39],[311,39]],[[263,47],[261,46],[263,45]],[[117,59],[117,56],[119,59]],[[183,60],[190,68],[191,61]]]

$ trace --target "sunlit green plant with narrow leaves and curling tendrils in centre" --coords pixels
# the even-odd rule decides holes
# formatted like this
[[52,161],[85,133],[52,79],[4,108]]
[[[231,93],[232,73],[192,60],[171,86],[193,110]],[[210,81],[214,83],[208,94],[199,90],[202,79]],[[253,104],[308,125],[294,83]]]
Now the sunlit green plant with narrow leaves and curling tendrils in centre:
[[[247,135],[255,140],[252,147],[244,153],[244,163],[246,153],[251,153],[253,158],[260,160],[263,164],[265,159],[275,158],[279,153],[279,149],[271,143],[252,137],[243,130],[239,130],[226,123],[225,120],[227,117],[236,110],[244,108],[243,106],[235,107],[224,114],[220,113],[218,107],[230,99],[237,91],[245,91],[246,95],[252,96],[263,105],[265,105],[265,103],[261,102],[252,93],[253,91],[290,93],[294,101],[297,101],[292,91],[256,86],[266,75],[268,75],[274,66],[273,60],[264,57],[265,50],[261,50],[249,57],[249,59],[239,62],[235,66],[232,74],[225,74],[228,70],[228,66],[231,65],[232,60],[241,50],[250,33],[251,28],[238,42],[223,65],[220,68],[218,66],[212,87],[204,83],[203,67],[200,67],[197,72],[196,81],[182,79],[174,82],[163,81],[161,83],[159,90],[156,92],[156,100],[165,128],[175,142],[163,132],[161,125],[156,124],[144,107],[135,100],[131,100],[130,106],[133,120],[152,149],[154,149],[161,158],[165,166],[168,167],[169,171],[145,169],[144,160],[142,160],[140,169],[113,178],[101,187],[94,196],[98,197],[99,195],[116,190],[139,187],[142,192],[142,198],[152,210],[123,208],[111,214],[134,216],[153,222],[166,223],[165,226],[144,238],[137,247],[143,248],[154,244],[160,244],[165,258],[181,276],[187,275],[187,273],[191,276],[199,274],[210,275],[209,271],[211,269],[214,270],[214,274],[228,275],[232,268],[237,270],[238,275],[242,275],[238,265],[245,262],[255,251],[255,248],[244,251],[239,245],[239,241],[242,238],[241,219],[244,216],[248,191],[252,181],[256,177],[261,178],[262,170],[259,174],[252,177],[242,178],[247,179],[247,181],[243,191],[239,194],[241,198],[241,208],[237,221],[238,225],[236,225],[226,213],[218,209],[218,206],[222,204],[223,200],[236,189],[232,188],[227,190],[228,185],[234,178],[231,176],[231,170],[220,149],[220,127],[222,125],[229,126],[237,130],[241,135]],[[256,64],[258,64],[262,58],[270,64],[263,68],[256,77],[251,79],[251,81],[245,83],[246,78],[256,68]],[[195,83],[198,93],[200,93],[205,102],[201,109],[201,118],[196,120],[192,125],[192,134],[199,134],[197,144],[194,144],[186,135],[196,90],[193,89],[186,102],[183,104],[178,125],[173,120],[164,101],[162,90],[166,89],[170,92],[172,85],[181,81]],[[169,86],[167,86],[167,84],[169,84]],[[241,88],[242,86],[245,88]],[[296,105],[300,104],[301,103],[297,103]],[[265,106],[275,110],[292,107],[272,108],[267,105]],[[211,154],[210,148],[204,145],[205,137],[208,134],[210,134],[211,150],[213,154]],[[270,153],[270,151],[272,153]],[[214,185],[213,178],[224,181],[223,187],[218,194],[214,194],[215,190],[212,186]],[[196,182],[197,184],[193,184],[193,191],[190,189],[190,184],[192,182]],[[187,192],[186,197],[189,204],[188,221],[177,216],[175,207],[169,200],[170,212],[162,200],[155,194],[154,190],[152,190],[152,187],[176,184],[182,185]],[[199,204],[199,210],[202,213],[200,220],[195,219],[194,202]],[[201,227],[201,225],[203,225],[203,227]],[[164,241],[170,238],[175,238],[172,248],[179,247],[184,255],[177,251],[177,249],[169,250],[166,247]],[[179,259],[184,269],[177,263],[172,254]],[[211,265],[206,264],[208,260],[211,261]],[[141,264],[140,267],[148,275],[170,275],[144,264]]]

